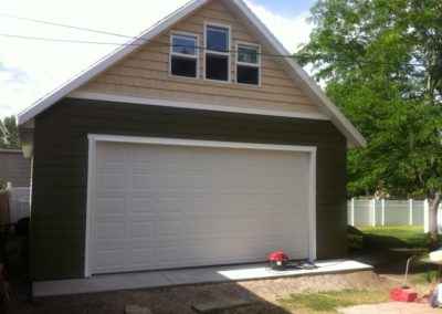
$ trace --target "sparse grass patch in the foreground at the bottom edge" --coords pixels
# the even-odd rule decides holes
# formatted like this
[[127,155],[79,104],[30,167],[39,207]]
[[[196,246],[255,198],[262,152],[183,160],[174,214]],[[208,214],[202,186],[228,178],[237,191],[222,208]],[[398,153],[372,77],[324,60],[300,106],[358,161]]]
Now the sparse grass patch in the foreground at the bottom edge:
[[344,290],[320,293],[292,294],[280,304],[294,313],[337,313],[337,308],[358,304],[376,304],[388,301],[388,293],[379,291]]

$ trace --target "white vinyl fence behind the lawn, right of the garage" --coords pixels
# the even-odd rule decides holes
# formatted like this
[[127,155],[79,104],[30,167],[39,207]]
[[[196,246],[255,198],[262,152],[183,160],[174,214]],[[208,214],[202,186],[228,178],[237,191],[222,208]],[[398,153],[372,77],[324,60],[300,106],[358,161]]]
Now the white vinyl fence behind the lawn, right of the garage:
[[[428,200],[355,199],[348,201],[348,224],[356,227],[422,226],[429,230]],[[442,208],[438,212],[442,232]]]

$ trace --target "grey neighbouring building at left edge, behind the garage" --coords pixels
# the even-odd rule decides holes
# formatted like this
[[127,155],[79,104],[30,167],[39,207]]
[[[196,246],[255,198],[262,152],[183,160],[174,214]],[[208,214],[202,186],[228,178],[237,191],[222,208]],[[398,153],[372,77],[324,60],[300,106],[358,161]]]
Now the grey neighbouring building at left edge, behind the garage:
[[31,184],[31,160],[21,150],[0,149],[0,180],[13,187],[25,188]]

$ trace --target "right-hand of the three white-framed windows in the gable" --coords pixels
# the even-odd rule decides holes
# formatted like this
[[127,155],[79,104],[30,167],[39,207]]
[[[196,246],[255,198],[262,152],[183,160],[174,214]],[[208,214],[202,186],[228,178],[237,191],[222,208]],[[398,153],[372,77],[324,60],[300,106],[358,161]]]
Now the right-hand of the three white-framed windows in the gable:
[[260,85],[261,54],[260,46],[252,44],[236,45],[236,82]]

